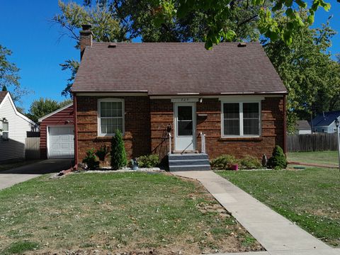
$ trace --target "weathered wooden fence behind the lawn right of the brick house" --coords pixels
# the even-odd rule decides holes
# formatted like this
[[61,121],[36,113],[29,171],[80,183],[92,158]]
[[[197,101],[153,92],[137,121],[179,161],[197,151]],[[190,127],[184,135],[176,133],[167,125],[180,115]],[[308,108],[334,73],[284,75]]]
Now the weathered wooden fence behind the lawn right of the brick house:
[[337,150],[336,133],[288,135],[288,152],[317,152]]

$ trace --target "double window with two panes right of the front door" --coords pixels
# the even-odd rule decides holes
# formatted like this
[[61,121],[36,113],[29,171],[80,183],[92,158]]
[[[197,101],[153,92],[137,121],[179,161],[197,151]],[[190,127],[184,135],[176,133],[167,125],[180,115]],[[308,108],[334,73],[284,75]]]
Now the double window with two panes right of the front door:
[[260,135],[260,102],[222,102],[222,137]]

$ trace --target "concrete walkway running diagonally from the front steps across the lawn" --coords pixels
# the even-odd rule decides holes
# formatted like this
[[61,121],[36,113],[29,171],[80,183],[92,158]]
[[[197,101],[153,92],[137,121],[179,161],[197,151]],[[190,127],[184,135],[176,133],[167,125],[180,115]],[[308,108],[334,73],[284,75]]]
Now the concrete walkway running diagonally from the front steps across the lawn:
[[213,171],[176,171],[172,174],[200,181],[266,249],[244,254],[340,255],[338,249],[332,249]]

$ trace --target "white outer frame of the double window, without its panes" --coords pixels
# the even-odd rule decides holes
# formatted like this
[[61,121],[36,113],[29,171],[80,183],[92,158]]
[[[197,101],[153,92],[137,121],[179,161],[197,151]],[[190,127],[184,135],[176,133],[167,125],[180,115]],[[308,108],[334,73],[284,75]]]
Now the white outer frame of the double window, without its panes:
[[[225,113],[224,104],[225,103],[239,103],[239,135],[225,135]],[[244,103],[259,103],[259,135],[244,135],[243,127],[243,104]],[[254,100],[221,100],[221,137],[261,137],[261,99]]]

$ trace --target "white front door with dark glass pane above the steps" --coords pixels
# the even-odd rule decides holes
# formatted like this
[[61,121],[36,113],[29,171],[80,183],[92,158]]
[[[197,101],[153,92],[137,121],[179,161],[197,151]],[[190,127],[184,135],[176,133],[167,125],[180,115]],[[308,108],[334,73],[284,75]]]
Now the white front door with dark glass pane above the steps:
[[174,103],[175,151],[196,149],[196,103]]

